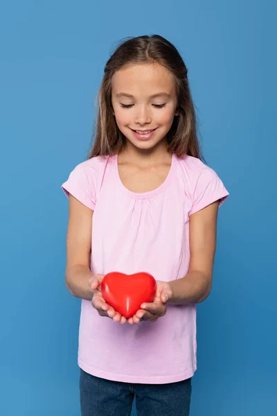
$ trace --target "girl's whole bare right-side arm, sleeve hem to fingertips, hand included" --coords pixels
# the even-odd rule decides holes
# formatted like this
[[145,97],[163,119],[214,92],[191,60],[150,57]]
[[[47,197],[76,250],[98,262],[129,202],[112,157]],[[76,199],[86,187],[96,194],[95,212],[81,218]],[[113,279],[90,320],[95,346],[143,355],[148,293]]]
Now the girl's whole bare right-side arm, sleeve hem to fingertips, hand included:
[[208,297],[213,277],[218,206],[218,201],[213,202],[190,216],[190,266],[187,275],[173,281],[157,281],[153,302],[142,304],[128,322],[156,321],[166,314],[167,302],[196,304]]

